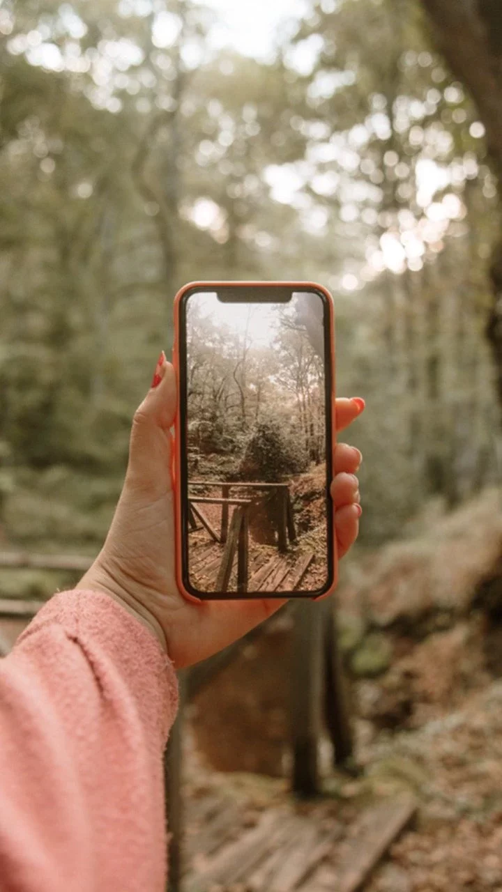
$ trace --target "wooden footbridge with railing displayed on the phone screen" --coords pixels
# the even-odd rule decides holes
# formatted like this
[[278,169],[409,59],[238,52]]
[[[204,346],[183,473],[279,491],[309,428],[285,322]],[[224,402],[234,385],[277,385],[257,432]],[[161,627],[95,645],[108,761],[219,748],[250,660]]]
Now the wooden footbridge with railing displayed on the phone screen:
[[[219,529],[206,506],[220,510]],[[250,526],[260,510],[271,518],[275,543],[251,553]],[[201,591],[299,591],[314,561],[312,549],[289,549],[297,531],[288,483],[190,481],[188,526],[188,572]]]

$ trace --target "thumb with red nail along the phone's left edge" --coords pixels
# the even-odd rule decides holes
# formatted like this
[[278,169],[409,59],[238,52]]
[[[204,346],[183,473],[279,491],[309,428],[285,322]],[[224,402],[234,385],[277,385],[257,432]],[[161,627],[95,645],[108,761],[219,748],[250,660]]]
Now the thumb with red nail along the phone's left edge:
[[134,414],[127,477],[155,497],[172,489],[172,434],[176,415],[176,375],[162,353],[152,387]]

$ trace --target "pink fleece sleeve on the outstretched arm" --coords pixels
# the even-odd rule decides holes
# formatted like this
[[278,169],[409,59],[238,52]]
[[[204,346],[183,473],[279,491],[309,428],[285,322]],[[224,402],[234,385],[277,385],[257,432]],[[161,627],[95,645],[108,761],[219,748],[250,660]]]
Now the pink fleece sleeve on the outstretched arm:
[[153,633],[68,591],[0,660],[2,892],[160,892],[162,755],[177,708]]

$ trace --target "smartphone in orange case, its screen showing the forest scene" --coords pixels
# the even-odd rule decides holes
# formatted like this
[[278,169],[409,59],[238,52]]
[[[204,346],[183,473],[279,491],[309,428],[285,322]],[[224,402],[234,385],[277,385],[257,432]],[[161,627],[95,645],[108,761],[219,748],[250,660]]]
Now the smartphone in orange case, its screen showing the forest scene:
[[192,599],[320,598],[337,555],[334,310],[307,282],[174,301],[177,582]]

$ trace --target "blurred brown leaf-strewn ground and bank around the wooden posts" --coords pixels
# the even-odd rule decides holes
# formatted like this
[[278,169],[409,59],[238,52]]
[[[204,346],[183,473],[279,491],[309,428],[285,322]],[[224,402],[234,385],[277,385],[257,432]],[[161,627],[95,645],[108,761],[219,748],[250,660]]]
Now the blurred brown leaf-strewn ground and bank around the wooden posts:
[[[334,833],[338,822],[338,837],[322,863],[308,881],[291,888],[337,892],[347,840],[357,839],[364,814],[382,798],[406,793],[418,806],[414,823],[362,888],[502,892],[498,493],[486,493],[451,516],[430,516],[425,528],[413,540],[353,561],[340,585],[356,777],[333,772],[327,740],[321,797],[296,803],[280,777],[288,764],[289,678],[282,668],[289,659],[288,614],[279,615],[275,628],[214,678],[190,707],[188,796],[194,800],[210,792],[237,801],[234,837],[259,822],[266,809],[306,814],[316,838],[322,828]],[[218,765],[240,770],[215,771]],[[240,885],[214,888],[247,892],[254,887],[244,877]]]

